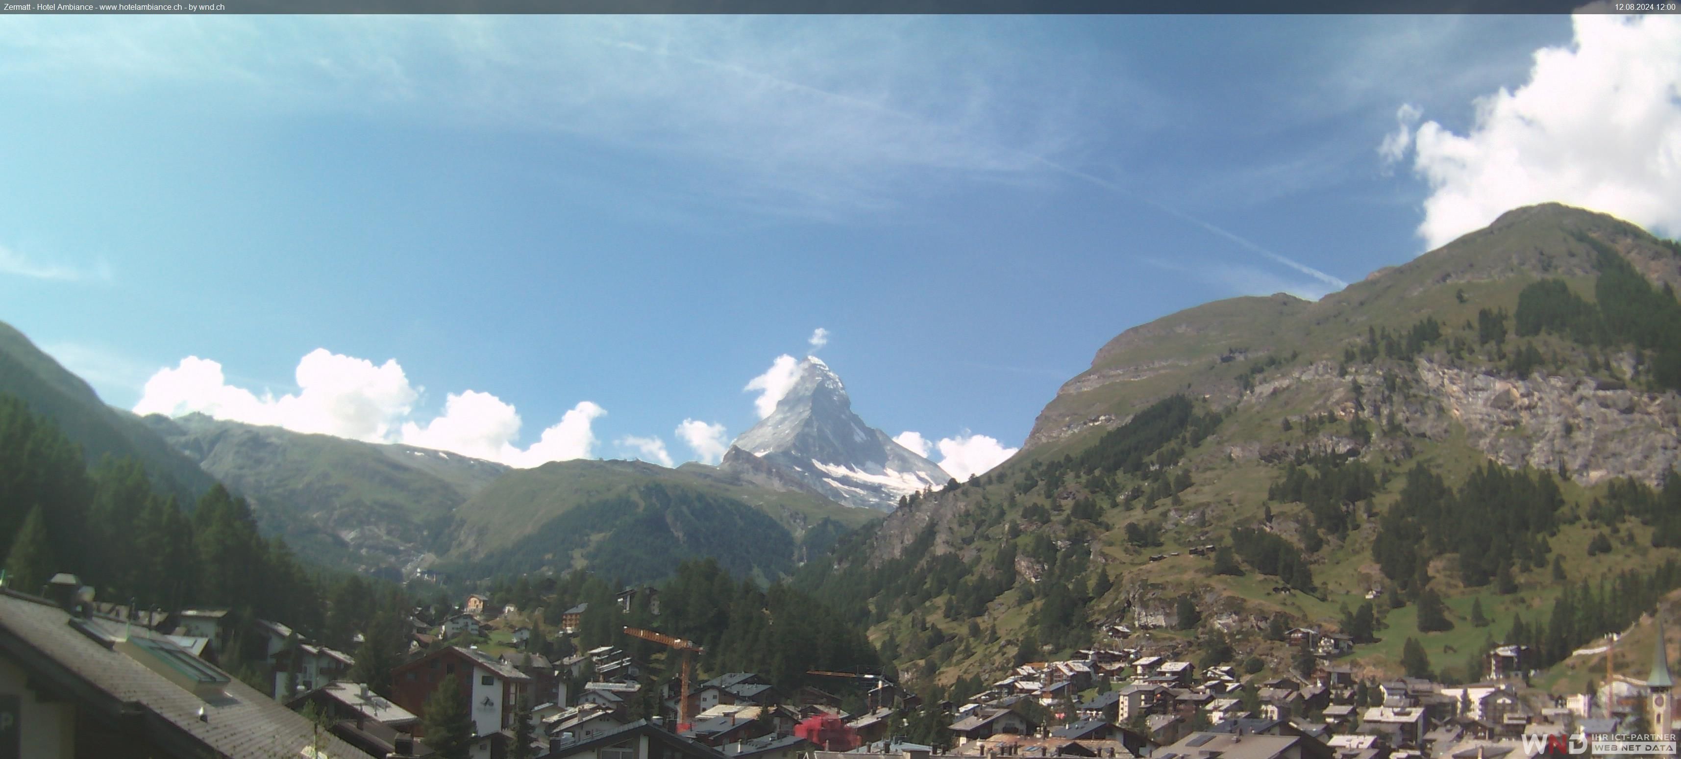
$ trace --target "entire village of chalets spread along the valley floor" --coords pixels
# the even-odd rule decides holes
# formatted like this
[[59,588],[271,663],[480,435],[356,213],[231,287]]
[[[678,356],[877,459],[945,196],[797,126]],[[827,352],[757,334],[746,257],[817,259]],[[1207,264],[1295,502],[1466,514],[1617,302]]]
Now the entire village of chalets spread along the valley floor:
[[[625,589],[625,611],[637,594],[657,591]],[[350,655],[313,645],[284,623],[259,621],[272,687],[257,692],[215,668],[227,609],[161,614],[91,596],[67,574],[55,576],[45,596],[0,594],[3,671],[22,675],[35,693],[17,714],[77,730],[86,719],[79,710],[104,703],[119,702],[138,722],[217,703],[213,720],[198,707],[170,742],[219,756],[261,756],[244,749],[262,735],[308,735],[314,754],[306,756],[318,757],[432,756],[420,740],[422,720],[445,678],[459,683],[462,707],[471,705],[476,759],[1516,759],[1604,746],[1595,742],[1627,735],[1629,725],[1668,727],[1647,729],[1656,735],[1676,725],[1663,645],[1652,648],[1649,671],[1612,673],[1597,693],[1560,698],[1526,687],[1528,646],[1496,648],[1478,683],[1373,682],[1338,663],[1346,653],[1340,636],[1298,628],[1286,641],[1313,671],[1262,680],[1236,666],[1197,666],[1177,658],[1182,646],[1151,645],[1148,631],[1120,624],[1104,631],[1115,646],[1022,663],[965,703],[925,703],[869,671],[810,671],[835,687],[793,692],[751,671],[691,685],[684,661],[682,677],[657,692],[657,714],[639,715],[632,702],[657,687],[654,670],[676,666],[693,645],[625,628],[627,641],[669,646],[664,661],[637,660],[620,646],[550,660],[531,651],[533,628],[516,624],[518,608],[481,594],[440,619],[415,609],[410,653],[390,670],[390,697],[345,680]],[[657,597],[652,608],[657,613]],[[577,633],[583,613],[566,609],[553,636]],[[844,709],[840,692],[862,707]],[[230,703],[237,709],[224,709]],[[906,725],[918,720],[935,720],[938,739],[906,739]]]

